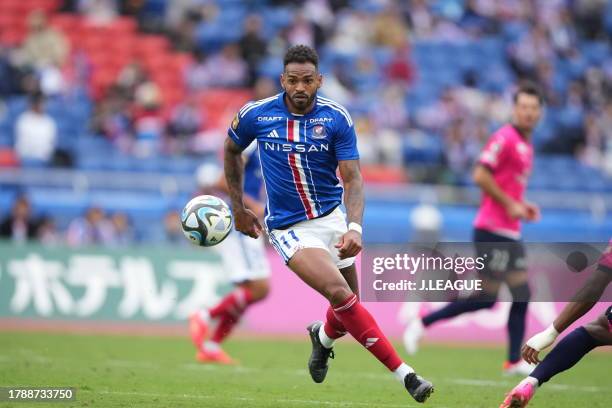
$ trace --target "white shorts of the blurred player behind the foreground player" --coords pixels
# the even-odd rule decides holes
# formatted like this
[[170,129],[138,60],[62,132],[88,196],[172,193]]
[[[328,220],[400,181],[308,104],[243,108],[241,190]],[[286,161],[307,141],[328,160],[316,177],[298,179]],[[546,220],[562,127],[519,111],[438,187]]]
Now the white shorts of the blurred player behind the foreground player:
[[223,259],[223,268],[234,283],[270,277],[270,264],[266,257],[263,237],[257,239],[232,231],[216,245]]

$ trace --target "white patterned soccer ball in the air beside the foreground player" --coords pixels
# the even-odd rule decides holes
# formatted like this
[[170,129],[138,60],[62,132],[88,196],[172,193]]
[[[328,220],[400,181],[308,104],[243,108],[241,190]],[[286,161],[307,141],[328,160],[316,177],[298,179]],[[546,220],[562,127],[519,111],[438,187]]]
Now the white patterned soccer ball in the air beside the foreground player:
[[229,206],[219,197],[211,195],[193,198],[181,213],[183,234],[194,245],[217,245],[229,235],[232,225]]

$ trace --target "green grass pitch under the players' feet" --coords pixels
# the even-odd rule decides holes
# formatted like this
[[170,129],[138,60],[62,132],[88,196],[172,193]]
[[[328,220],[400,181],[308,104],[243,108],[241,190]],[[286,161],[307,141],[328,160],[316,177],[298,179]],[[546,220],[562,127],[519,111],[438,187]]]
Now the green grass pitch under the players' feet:
[[[500,348],[425,346],[407,359],[436,391],[417,404],[374,358],[350,339],[336,346],[323,384],[314,384],[304,340],[233,339],[242,364],[201,365],[178,337],[0,332],[0,386],[74,386],[69,403],[0,407],[498,407],[518,378],[500,374]],[[533,407],[609,407],[612,353],[585,357],[543,387]]]

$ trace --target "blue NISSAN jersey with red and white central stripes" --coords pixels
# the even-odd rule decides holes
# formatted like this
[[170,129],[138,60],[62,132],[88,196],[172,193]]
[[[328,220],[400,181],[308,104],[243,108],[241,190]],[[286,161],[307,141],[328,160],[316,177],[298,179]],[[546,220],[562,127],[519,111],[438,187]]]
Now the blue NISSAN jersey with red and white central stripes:
[[339,160],[359,159],[353,120],[338,103],[317,96],[306,115],[289,112],[284,92],[246,104],[228,136],[246,148],[257,140],[268,229],[317,218],[342,202]]

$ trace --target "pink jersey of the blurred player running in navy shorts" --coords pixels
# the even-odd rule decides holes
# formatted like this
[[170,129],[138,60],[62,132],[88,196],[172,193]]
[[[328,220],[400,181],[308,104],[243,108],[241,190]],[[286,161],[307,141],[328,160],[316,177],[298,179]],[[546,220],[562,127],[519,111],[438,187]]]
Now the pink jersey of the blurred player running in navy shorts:
[[[497,185],[510,198],[523,201],[533,164],[533,147],[514,126],[506,125],[495,132],[478,162],[492,172]],[[502,204],[486,193],[474,227],[512,239],[520,238],[521,234],[519,218],[513,218]]]

